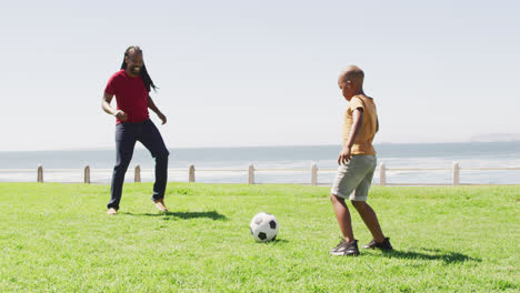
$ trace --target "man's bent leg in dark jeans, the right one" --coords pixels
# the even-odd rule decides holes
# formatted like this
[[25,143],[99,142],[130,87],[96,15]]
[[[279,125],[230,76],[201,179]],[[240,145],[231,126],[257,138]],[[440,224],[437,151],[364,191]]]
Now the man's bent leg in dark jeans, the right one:
[[156,158],[156,183],[153,184],[152,201],[162,202],[168,182],[168,155],[170,152],[162,140],[161,133],[151,120],[143,123],[139,141]]

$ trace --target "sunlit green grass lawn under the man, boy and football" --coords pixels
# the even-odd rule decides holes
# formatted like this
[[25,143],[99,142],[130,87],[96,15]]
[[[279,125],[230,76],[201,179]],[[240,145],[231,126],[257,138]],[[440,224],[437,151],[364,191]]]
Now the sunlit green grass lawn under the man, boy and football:
[[[498,292],[520,290],[520,186],[378,188],[369,203],[396,249],[338,257],[328,188],[169,183],[0,184],[0,291]],[[278,241],[249,222],[273,213]],[[351,209],[354,235],[371,240]]]

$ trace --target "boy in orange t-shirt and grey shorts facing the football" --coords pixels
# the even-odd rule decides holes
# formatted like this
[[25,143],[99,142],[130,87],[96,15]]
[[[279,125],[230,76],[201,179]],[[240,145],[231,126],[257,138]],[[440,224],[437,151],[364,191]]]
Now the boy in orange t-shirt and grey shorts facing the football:
[[330,192],[336,219],[343,234],[338,246],[330,250],[333,255],[359,254],[346,199],[351,201],[372,233],[373,240],[363,247],[392,250],[390,239],[384,238],[374,211],[367,204],[377,163],[372,141],[379,129],[379,121],[373,99],[363,92],[363,71],[356,65],[348,67],[338,79],[338,85],[349,102],[349,108],[343,124],[343,149],[338,156],[340,166]]

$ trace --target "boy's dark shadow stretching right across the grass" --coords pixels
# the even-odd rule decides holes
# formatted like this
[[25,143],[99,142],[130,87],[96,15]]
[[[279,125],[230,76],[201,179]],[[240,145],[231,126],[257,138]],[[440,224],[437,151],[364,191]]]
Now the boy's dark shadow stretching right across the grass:
[[388,257],[398,257],[398,259],[407,259],[407,260],[427,260],[427,261],[443,261],[447,264],[451,263],[459,263],[459,262],[481,262],[480,259],[473,259],[466,254],[458,253],[458,252],[442,252],[441,250],[431,250],[431,249],[422,249],[424,251],[431,252],[423,253],[417,251],[383,251],[382,254]]

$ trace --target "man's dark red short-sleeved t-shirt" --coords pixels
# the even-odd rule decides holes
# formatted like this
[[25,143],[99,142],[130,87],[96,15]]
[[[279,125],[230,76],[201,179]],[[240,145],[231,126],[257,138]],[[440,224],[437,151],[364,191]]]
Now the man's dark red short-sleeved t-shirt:
[[[128,115],[124,122],[142,122],[150,118],[148,91],[141,77],[132,78],[122,69],[110,78],[104,92],[116,95],[118,110],[122,110]],[[117,123],[120,122],[117,119]]]

